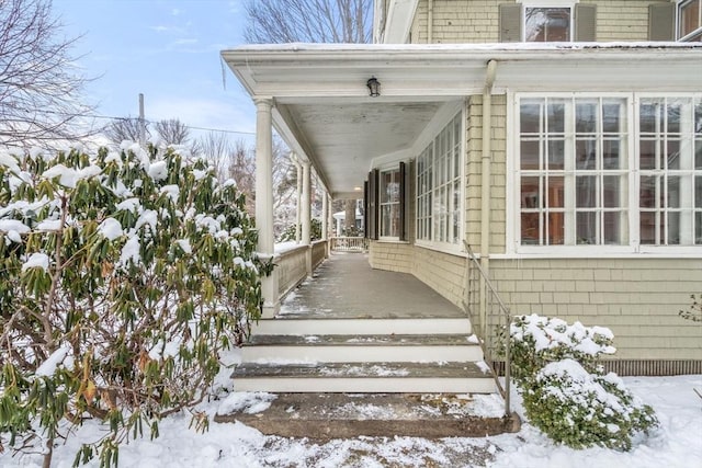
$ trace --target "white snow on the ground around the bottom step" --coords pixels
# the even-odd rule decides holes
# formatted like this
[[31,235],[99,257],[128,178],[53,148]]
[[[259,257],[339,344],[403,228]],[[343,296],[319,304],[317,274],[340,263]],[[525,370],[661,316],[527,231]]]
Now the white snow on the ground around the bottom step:
[[[190,418],[176,415],[161,422],[160,437],[136,440],[120,450],[121,467],[519,467],[582,468],[702,467],[702,375],[677,377],[625,377],[627,387],[652,404],[660,427],[649,437],[636,441],[629,453],[605,448],[574,450],[556,446],[533,426],[524,423],[517,434],[484,438],[417,437],[336,440],[324,444],[305,438],[264,436],[240,423],[211,422],[204,434],[189,430]],[[265,393],[237,395],[210,401],[203,409],[211,415],[218,410],[250,408],[262,410],[270,401]],[[479,403],[479,399],[476,400]],[[485,404],[494,404],[485,399]],[[521,412],[520,399],[514,406]],[[480,409],[477,408],[476,411]],[[87,423],[66,445],[54,452],[56,468],[70,467],[81,442],[101,433]],[[97,467],[97,460],[90,466]],[[37,456],[0,455],[2,467],[41,467]]]

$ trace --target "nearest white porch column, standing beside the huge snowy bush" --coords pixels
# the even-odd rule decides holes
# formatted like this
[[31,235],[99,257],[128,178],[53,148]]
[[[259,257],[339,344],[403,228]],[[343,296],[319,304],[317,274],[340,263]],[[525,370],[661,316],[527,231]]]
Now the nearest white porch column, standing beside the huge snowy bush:
[[[272,99],[256,99],[256,227],[259,231],[257,250],[263,259],[273,261],[273,121]],[[275,316],[280,308],[278,271],[261,278],[263,317]]]

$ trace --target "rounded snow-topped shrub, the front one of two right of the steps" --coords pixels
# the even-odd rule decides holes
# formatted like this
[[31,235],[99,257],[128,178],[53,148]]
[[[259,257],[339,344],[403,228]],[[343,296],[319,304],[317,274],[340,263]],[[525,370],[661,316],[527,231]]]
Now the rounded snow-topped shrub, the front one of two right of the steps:
[[578,362],[563,359],[547,364],[535,381],[523,392],[529,421],[569,447],[629,450],[633,436],[657,424],[653,409],[613,373],[590,374]]

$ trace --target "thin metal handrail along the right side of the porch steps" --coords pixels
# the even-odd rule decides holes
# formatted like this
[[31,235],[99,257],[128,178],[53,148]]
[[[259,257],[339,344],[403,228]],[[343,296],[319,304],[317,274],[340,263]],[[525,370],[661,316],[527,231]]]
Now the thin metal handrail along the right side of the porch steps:
[[[505,303],[500,298],[499,294],[497,294],[497,289],[495,289],[495,287],[492,286],[492,282],[490,282],[490,278],[488,277],[488,275],[486,274],[485,270],[483,269],[483,265],[480,265],[480,261],[478,260],[478,258],[473,252],[473,249],[471,248],[471,244],[468,244],[466,241],[463,241],[463,244],[465,246],[465,249],[468,252],[468,259],[471,260],[472,264],[477,269],[477,272],[479,273],[479,275],[485,281],[486,293],[489,293],[491,295],[494,300],[497,303],[497,307],[499,309],[499,313],[497,315],[498,317],[488,317],[488,315],[487,315],[487,304],[485,304],[484,306],[485,306],[485,309],[486,309],[486,313],[485,313],[485,317],[482,318],[483,320],[480,320],[480,327],[478,327],[477,329],[483,332],[482,334],[485,334],[485,336],[478,336],[478,338],[480,338],[480,346],[483,347],[483,354],[485,356],[485,359],[487,361],[487,364],[492,369],[495,381],[497,384],[497,388],[499,389],[500,393],[502,395],[502,398],[505,399],[505,415],[509,416],[511,414],[511,404],[510,404],[511,356],[510,356],[510,346],[509,346],[509,332],[510,332],[509,329],[510,329],[510,326],[511,326],[511,322],[512,322],[512,316],[510,315],[509,308],[505,305]],[[471,287],[469,287],[469,282],[471,282],[469,272],[466,272],[466,275],[468,275],[468,277],[467,277],[467,279],[468,279],[468,290],[471,290]],[[486,294],[486,299],[485,300],[487,303],[487,294]],[[467,304],[467,303],[464,303],[464,307],[466,308],[466,310],[469,313],[471,312],[471,305]],[[471,319],[473,319],[473,318],[474,318],[474,315],[471,315]],[[505,343],[505,387],[503,388],[500,385],[499,378],[497,376],[497,368],[495,366],[495,358],[494,358],[495,356],[494,356],[492,352],[494,352],[495,340],[497,339],[497,336],[491,334],[491,332],[495,331],[495,328],[492,330],[490,330],[490,328],[488,327],[489,319],[497,319],[498,324],[495,328],[499,329],[499,328],[503,327],[503,330],[505,330],[506,343]],[[503,324],[500,323],[500,319],[505,320]]]

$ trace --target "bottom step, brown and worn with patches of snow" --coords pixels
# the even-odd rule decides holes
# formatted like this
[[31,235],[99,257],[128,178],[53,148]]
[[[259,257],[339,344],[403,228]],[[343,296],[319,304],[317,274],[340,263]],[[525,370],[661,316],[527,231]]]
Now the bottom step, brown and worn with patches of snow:
[[[270,406],[216,414],[215,422],[239,421],[267,435],[315,441],[367,437],[485,437],[518,432],[517,414],[505,418],[498,395],[453,393],[278,393]],[[256,399],[252,403],[257,404]],[[490,410],[490,411],[486,411]],[[465,457],[467,454],[463,454]],[[479,464],[480,466],[484,463]],[[454,465],[455,466],[455,465]]]

